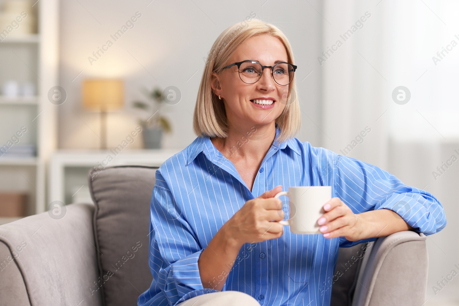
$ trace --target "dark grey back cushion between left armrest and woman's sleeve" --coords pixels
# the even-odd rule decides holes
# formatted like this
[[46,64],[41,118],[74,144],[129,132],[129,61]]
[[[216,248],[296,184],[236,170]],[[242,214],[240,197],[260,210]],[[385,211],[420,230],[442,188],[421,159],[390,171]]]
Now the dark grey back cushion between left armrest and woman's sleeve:
[[106,306],[137,305],[139,295],[150,288],[153,277],[148,267],[148,232],[156,170],[118,166],[93,169],[88,174]]

